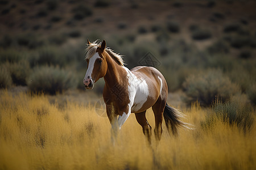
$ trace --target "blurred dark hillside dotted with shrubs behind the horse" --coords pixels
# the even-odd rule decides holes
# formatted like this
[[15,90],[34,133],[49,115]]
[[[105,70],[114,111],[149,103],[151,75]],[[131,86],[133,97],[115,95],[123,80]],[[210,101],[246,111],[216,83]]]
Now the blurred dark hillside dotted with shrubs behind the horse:
[[187,104],[243,96],[255,106],[255,8],[253,0],[1,0],[0,88],[85,91],[86,39],[105,39],[129,69],[150,52]]

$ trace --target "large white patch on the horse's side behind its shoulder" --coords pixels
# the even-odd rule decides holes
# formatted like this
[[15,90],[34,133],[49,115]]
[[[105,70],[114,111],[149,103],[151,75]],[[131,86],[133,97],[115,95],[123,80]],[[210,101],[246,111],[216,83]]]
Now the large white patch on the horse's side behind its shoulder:
[[146,80],[138,78],[129,69],[124,67],[127,72],[129,81],[128,91],[131,105],[131,112],[137,112],[142,108],[143,104],[147,101],[148,86]]

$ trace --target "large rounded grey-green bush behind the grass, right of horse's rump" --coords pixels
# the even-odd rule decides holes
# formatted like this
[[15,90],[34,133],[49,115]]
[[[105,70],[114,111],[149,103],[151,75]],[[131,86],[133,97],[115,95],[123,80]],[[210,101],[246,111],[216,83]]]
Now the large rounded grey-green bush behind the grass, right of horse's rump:
[[199,101],[201,105],[212,104],[216,97],[222,100],[240,93],[240,87],[224,76],[221,70],[207,70],[196,75],[190,75],[183,83],[186,101]]

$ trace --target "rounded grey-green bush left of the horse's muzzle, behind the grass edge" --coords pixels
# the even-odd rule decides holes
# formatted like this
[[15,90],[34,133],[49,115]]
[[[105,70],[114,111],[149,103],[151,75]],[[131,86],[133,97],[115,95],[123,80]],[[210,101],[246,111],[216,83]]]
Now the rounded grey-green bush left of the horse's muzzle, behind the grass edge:
[[58,67],[39,67],[34,70],[28,79],[28,88],[32,92],[44,92],[55,95],[69,88],[76,88],[77,82],[74,75]]

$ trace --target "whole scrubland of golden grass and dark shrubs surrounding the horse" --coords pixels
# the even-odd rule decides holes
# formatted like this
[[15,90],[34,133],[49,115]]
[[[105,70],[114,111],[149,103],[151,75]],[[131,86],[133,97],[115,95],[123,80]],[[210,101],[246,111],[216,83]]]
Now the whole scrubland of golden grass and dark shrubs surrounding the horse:
[[[0,169],[255,169],[256,2],[0,0]],[[194,130],[113,144],[86,39],[164,75]],[[104,110],[103,110],[104,111]],[[154,128],[154,114],[147,111]]]

